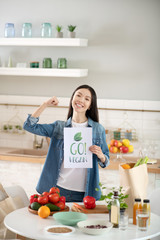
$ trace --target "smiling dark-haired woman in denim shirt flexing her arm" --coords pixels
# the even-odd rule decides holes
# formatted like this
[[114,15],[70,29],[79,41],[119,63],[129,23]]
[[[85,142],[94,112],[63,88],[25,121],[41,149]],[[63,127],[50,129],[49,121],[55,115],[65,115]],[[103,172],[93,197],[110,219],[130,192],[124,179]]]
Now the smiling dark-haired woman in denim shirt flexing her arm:
[[[47,158],[37,185],[42,193],[57,186],[68,202],[81,202],[87,195],[100,198],[99,169],[109,164],[109,150],[105,129],[99,124],[97,96],[88,85],[79,86],[72,94],[67,121],[52,124],[38,124],[40,114],[49,106],[57,106],[58,99],[52,97],[44,102],[24,123],[24,129],[41,136],[50,137]],[[92,142],[89,150],[93,153],[93,168],[64,168],[64,127],[92,127]]]

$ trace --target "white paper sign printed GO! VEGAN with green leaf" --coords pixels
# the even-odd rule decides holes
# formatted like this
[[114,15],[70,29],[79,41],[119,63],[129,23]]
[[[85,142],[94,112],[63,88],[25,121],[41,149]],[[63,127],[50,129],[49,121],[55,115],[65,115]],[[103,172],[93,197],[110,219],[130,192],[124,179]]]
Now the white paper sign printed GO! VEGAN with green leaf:
[[64,168],[92,168],[92,128],[64,128]]

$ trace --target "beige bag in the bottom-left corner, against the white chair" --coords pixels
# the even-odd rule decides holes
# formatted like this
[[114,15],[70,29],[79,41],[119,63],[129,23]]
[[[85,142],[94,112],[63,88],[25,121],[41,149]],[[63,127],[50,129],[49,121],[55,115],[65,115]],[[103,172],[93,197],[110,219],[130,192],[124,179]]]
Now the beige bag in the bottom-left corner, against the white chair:
[[0,239],[13,239],[15,233],[9,231],[4,225],[4,218],[10,212],[24,207],[24,203],[19,196],[9,197],[0,184]]

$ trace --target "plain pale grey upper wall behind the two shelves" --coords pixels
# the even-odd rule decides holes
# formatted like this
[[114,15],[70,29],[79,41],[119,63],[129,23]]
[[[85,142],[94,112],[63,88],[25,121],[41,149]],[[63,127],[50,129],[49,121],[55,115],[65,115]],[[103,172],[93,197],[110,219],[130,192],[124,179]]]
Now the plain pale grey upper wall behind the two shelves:
[[[92,85],[98,98],[160,100],[160,1],[158,0],[1,0],[0,37],[6,22],[15,23],[16,36],[24,22],[51,22],[54,29],[77,25],[77,37],[88,38],[88,48],[0,47],[2,64],[66,57],[69,67],[88,68],[87,78],[0,76],[0,94],[69,97],[75,87]],[[55,35],[55,30],[54,30]]]

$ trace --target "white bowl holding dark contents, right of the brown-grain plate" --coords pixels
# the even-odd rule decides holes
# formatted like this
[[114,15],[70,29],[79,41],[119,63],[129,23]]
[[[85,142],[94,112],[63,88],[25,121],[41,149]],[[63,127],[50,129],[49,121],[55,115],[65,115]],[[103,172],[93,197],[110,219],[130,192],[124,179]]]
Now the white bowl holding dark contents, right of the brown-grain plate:
[[[106,226],[107,228],[87,228],[86,226],[91,226],[91,225],[101,225],[101,226]],[[81,221],[77,223],[77,226],[79,229],[87,234],[91,235],[100,235],[109,232],[113,224],[108,222],[107,220],[104,219],[97,219],[97,220],[86,220],[86,221]]]

